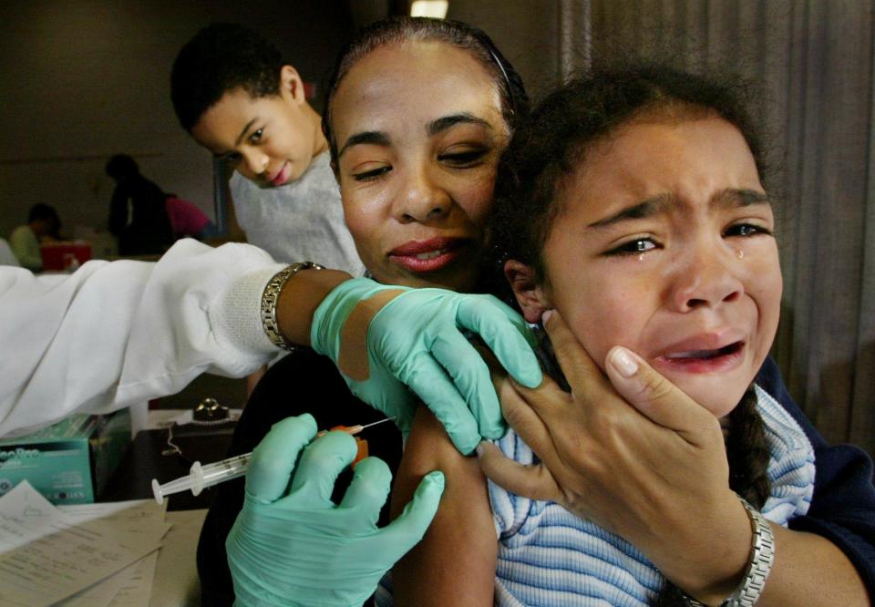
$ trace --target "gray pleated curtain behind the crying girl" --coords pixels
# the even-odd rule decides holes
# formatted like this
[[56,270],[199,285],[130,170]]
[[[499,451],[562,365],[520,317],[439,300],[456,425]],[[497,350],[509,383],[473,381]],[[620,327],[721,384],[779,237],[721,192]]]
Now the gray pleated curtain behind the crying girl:
[[559,71],[633,51],[763,87],[785,293],[773,354],[830,442],[875,453],[873,4],[559,0]]

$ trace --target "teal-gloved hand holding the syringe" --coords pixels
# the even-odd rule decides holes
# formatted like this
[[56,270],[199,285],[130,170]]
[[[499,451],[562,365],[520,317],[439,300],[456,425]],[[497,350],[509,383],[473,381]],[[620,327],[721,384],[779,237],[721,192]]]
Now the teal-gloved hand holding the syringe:
[[355,440],[345,432],[316,439],[293,474],[315,434],[312,416],[289,417],[252,454],[243,509],[225,541],[238,606],[358,607],[422,539],[438,510],[444,477],[432,472],[401,516],[378,529],[392,479],[378,458],[358,463],[335,505],[335,478],[355,458]]

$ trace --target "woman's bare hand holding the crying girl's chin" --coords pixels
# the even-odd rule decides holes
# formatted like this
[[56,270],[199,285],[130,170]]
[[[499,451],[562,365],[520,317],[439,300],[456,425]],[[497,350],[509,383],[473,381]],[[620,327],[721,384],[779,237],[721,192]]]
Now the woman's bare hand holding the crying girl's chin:
[[718,420],[628,350],[611,350],[605,376],[559,314],[545,328],[571,394],[551,379],[534,389],[502,382],[504,416],[540,464],[481,443],[484,473],[620,535],[682,588],[726,596],[744,569],[750,527],[729,489]]

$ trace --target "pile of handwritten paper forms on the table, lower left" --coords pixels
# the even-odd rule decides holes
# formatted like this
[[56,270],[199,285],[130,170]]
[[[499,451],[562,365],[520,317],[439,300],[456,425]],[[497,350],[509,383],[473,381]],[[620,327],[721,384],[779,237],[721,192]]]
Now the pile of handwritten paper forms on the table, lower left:
[[0,603],[120,607],[141,604],[144,593],[148,603],[156,550],[169,529],[149,502],[62,511],[19,483],[0,498]]

